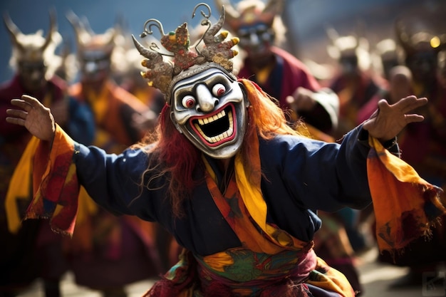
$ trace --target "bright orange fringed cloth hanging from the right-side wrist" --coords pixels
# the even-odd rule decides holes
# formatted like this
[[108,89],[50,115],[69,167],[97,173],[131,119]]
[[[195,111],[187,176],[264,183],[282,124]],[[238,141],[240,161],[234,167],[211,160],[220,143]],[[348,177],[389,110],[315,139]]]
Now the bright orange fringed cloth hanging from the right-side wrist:
[[400,158],[369,137],[367,173],[376,219],[380,251],[403,251],[410,241],[430,236],[432,227],[446,214],[445,193],[422,179]]

